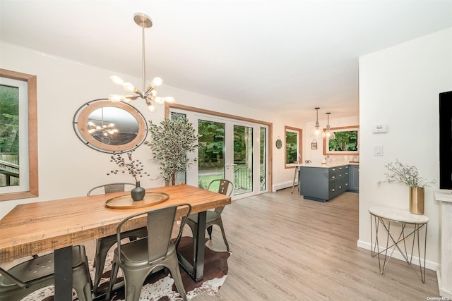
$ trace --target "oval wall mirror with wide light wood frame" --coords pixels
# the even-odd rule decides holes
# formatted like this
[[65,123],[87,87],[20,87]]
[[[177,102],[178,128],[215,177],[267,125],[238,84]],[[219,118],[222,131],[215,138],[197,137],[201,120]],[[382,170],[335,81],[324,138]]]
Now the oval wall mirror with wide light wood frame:
[[145,118],[137,109],[108,99],[83,104],[72,123],[78,138],[100,152],[128,152],[141,145],[148,135]]

